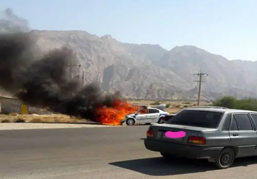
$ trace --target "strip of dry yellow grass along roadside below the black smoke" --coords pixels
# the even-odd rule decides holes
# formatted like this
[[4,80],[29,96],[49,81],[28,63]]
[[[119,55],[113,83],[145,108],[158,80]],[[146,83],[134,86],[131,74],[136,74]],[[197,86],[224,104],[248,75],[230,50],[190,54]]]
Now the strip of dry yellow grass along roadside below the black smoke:
[[30,123],[83,123],[84,119],[70,118],[66,115],[19,115],[9,114],[0,115],[0,122],[2,123],[16,123],[16,122],[30,122]]

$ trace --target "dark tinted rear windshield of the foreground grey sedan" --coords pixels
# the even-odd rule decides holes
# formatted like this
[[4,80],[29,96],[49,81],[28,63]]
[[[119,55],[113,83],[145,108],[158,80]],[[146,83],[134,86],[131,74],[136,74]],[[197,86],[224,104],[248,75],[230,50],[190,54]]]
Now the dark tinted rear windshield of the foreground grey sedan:
[[183,110],[167,121],[168,124],[216,128],[223,113],[204,110]]

